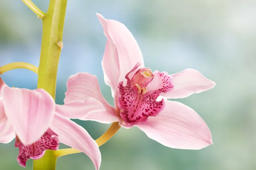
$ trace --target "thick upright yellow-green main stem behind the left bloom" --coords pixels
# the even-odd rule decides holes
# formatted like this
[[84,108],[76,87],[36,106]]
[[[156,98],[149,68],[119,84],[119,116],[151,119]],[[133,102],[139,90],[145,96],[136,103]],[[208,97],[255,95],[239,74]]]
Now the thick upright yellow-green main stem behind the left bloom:
[[[50,0],[43,20],[41,57],[38,68],[38,88],[43,88],[55,99],[56,78],[61,54],[62,34],[67,0]],[[33,170],[55,170],[57,156],[54,150],[33,161]]]

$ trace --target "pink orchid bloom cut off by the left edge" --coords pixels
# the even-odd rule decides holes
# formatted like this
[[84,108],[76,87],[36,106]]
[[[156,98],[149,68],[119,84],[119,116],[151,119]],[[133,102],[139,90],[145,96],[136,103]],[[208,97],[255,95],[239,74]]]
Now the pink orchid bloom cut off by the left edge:
[[83,127],[55,113],[55,102],[43,89],[10,88],[0,78],[0,143],[14,138],[18,163],[40,159],[45,150],[58,150],[59,142],[87,154],[99,170],[101,154]]

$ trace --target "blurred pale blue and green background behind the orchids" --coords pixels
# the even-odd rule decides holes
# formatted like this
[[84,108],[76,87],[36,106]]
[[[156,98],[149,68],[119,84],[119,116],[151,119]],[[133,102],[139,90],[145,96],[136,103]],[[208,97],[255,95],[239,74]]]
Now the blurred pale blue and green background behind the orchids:
[[[33,0],[47,11],[49,0]],[[179,99],[204,119],[213,145],[177,150],[149,139],[137,127],[121,128],[100,147],[101,170],[255,170],[256,1],[255,0],[68,0],[64,48],[58,69],[56,102],[63,104],[66,82],[77,72],[95,74],[105,99],[101,60],[106,38],[96,14],[118,20],[133,33],[145,65],[177,73],[194,68],[217,85]],[[21,0],[0,1],[0,65],[39,64],[42,22]],[[9,86],[35,89],[37,75],[18,69],[3,74]],[[82,122],[97,139],[110,125]],[[61,148],[66,146],[61,145]],[[0,170],[22,170],[14,141],[0,144]],[[32,170],[32,160],[27,162]],[[58,159],[57,170],[93,170],[83,153]]]

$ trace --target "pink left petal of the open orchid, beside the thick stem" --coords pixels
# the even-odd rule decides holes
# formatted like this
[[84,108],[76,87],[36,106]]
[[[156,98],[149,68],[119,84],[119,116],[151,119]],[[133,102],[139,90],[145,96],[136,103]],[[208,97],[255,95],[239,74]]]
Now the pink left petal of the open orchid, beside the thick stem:
[[73,119],[93,120],[101,123],[118,122],[114,108],[100,92],[97,77],[78,73],[67,81],[64,105],[56,105],[56,112]]

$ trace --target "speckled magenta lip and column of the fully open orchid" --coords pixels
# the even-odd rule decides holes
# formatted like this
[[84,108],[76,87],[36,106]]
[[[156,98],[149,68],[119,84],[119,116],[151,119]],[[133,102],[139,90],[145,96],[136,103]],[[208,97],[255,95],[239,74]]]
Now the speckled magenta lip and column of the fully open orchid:
[[[172,77],[168,73],[155,71],[153,74],[150,68],[135,71],[138,66],[126,74],[126,86],[123,86],[123,82],[118,85],[119,116],[127,125],[142,123],[149,116],[157,116],[165,105],[164,100],[157,101],[157,97],[173,89]],[[133,76],[130,75],[132,73]]]

